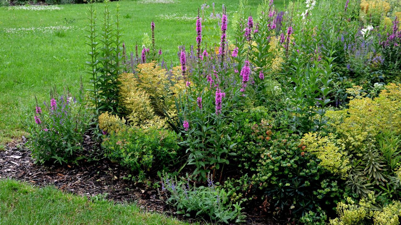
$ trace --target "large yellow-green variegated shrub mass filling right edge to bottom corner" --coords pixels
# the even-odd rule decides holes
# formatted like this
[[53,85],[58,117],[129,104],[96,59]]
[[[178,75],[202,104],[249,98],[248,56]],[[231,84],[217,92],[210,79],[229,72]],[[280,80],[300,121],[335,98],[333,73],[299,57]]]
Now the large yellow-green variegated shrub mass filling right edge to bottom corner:
[[304,135],[305,151],[345,179],[349,197],[332,224],[398,224],[401,84],[388,84],[374,99],[354,96],[348,109],[327,112],[332,133]]

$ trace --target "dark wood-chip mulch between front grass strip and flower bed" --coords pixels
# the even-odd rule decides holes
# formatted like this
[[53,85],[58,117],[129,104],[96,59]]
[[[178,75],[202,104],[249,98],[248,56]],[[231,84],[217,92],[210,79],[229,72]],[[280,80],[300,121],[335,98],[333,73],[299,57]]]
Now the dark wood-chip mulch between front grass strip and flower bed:
[[[0,152],[0,179],[25,181],[38,187],[52,185],[61,191],[89,199],[101,196],[110,201],[136,203],[144,211],[163,213],[189,222],[196,221],[182,218],[174,208],[166,204],[166,193],[157,188],[160,185],[158,179],[149,180],[151,184],[158,185],[134,183],[124,179],[128,177],[126,169],[106,159],[80,161],[77,165],[36,165],[30,156],[31,151],[24,145],[25,141],[23,137],[20,143],[10,143],[5,151]],[[88,152],[96,149],[89,136],[85,138],[84,146]],[[271,216],[261,215],[257,210],[249,211],[251,213],[245,213],[247,218],[243,224],[283,224]]]

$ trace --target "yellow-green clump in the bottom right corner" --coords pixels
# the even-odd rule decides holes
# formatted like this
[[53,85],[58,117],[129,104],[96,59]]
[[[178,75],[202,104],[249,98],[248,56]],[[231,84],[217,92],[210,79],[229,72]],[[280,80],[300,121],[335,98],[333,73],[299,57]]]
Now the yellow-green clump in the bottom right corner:
[[401,215],[401,202],[393,201],[383,209],[377,209],[375,206],[373,193],[369,194],[367,199],[361,199],[354,203],[348,197],[347,203],[337,204],[338,218],[331,219],[330,225],[354,225],[360,224],[364,219],[373,219],[373,225],[398,225],[398,219]]

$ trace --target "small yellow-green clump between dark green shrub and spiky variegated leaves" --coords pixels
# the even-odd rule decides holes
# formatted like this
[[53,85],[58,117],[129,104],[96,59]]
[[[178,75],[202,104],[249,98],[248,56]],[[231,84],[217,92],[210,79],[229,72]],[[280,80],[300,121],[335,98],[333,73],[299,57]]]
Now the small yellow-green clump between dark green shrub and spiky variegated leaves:
[[344,151],[344,145],[338,142],[332,133],[326,137],[318,133],[307,133],[302,142],[306,145],[306,151],[314,153],[321,160],[320,166],[332,173],[346,176],[351,168],[348,155]]

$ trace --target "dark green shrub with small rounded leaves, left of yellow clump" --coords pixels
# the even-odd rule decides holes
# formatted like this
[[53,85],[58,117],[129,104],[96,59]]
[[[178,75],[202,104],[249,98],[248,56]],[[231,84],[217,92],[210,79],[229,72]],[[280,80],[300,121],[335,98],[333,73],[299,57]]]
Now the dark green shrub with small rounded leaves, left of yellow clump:
[[319,206],[326,211],[335,206],[342,184],[319,166],[319,159],[304,152],[298,135],[275,132],[264,146],[252,184],[271,198],[277,213],[291,211],[300,218]]

